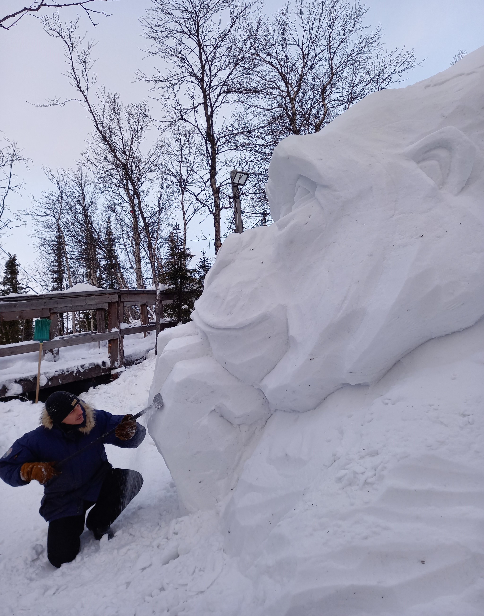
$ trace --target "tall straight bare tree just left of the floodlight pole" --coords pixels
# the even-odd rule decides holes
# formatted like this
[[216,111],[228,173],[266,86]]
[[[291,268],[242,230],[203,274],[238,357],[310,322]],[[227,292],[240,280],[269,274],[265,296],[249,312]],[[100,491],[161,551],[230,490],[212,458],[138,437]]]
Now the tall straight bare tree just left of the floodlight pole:
[[252,7],[252,0],[153,0],[142,20],[149,53],[169,67],[140,77],[160,92],[171,124],[188,124],[203,144],[207,194],[199,198],[213,219],[216,253],[220,214],[230,207],[221,198],[230,178],[225,158],[246,130],[232,115],[247,60],[234,41],[243,36]]

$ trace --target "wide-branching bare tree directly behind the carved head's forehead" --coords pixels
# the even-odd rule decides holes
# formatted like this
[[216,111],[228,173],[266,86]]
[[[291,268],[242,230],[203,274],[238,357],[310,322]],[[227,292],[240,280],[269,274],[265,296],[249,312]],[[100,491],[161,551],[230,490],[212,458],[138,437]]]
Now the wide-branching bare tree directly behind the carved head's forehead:
[[[273,148],[289,135],[318,132],[370,92],[405,79],[417,65],[413,49],[387,51],[382,26],[368,28],[368,7],[356,0],[296,0],[270,18],[246,20],[240,104],[254,131],[245,144],[246,164],[260,197]],[[259,223],[260,224],[260,223]]]

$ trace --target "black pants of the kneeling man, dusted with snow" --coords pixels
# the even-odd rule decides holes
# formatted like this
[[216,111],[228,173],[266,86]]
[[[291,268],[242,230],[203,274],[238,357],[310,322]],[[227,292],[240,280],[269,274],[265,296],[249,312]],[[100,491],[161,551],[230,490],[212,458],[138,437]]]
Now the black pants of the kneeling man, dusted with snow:
[[47,557],[54,567],[60,567],[63,562],[71,562],[79,553],[80,537],[84,530],[86,511],[86,526],[95,533],[106,530],[116,517],[141,490],[143,477],[137,471],[124,468],[111,468],[101,486],[99,497],[94,505],[84,501],[84,513],[80,516],[60,517],[49,523],[47,533]]

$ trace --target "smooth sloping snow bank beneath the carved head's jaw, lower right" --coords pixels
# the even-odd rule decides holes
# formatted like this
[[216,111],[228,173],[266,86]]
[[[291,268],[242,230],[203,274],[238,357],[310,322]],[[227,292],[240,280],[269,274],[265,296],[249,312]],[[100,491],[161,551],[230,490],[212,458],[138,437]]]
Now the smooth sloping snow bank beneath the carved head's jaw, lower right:
[[484,320],[276,411],[224,512],[256,614],[482,614]]

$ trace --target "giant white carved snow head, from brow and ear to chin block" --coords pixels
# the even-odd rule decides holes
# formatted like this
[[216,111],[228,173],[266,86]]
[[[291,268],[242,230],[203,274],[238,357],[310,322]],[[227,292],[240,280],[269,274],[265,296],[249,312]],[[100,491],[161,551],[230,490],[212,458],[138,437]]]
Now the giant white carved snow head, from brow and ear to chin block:
[[230,493],[271,412],[482,317],[483,100],[484,48],[275,148],[275,222],[230,235],[193,322],[160,334],[148,427],[188,509]]

